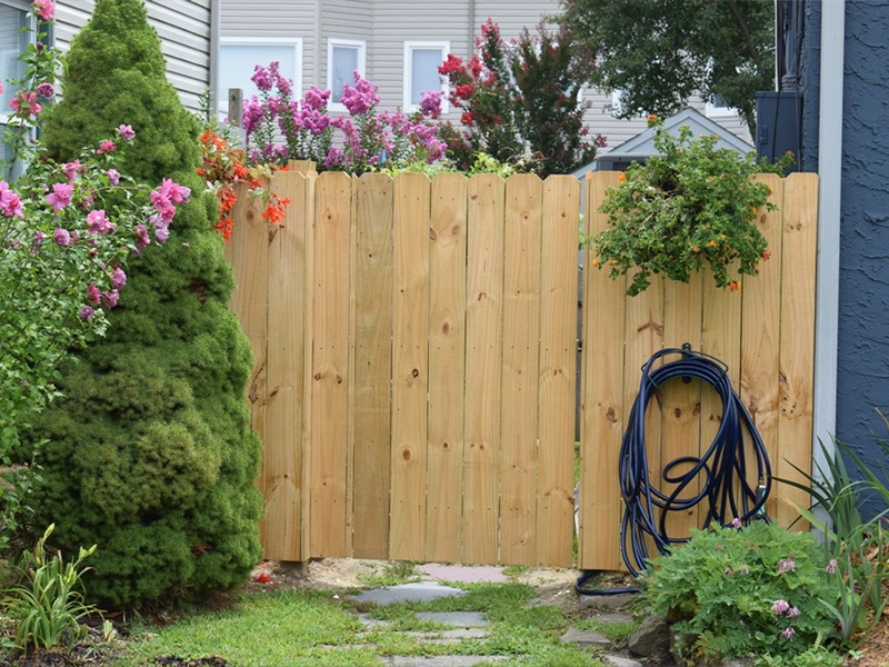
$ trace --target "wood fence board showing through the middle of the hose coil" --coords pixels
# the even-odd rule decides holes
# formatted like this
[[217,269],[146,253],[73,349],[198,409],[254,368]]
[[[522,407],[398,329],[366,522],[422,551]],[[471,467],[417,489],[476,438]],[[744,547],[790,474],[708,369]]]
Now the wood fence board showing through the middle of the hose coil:
[[[701,321],[703,302],[703,278],[700,272],[689,281],[667,280],[663,286],[663,347],[681,348],[688,342],[692,350],[701,349]],[[667,362],[680,359],[668,357]],[[665,476],[676,478],[691,470],[692,465],[682,464],[665,468],[679,457],[698,457],[701,452],[701,382],[681,379],[670,380],[662,387],[663,406],[661,428],[663,432],[662,458],[658,487],[665,494],[678,491],[680,485],[668,482]],[[700,491],[702,476],[686,486],[677,500],[681,501]],[[666,517],[667,535],[671,538],[689,537],[689,529],[698,526],[698,506],[683,511],[669,511]]]

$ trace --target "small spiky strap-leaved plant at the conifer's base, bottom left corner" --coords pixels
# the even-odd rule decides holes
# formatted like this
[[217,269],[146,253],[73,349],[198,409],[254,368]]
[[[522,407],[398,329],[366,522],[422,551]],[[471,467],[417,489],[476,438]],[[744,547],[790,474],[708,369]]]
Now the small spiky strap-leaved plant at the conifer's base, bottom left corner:
[[97,611],[83,600],[83,561],[96,550],[80,548],[66,563],[61,552],[47,554],[46,542],[54,525],[47,528],[33,551],[24,551],[22,571],[28,584],[13,586],[3,599],[6,613],[16,621],[17,647],[27,655],[67,645],[70,650],[87,630],[80,620]]

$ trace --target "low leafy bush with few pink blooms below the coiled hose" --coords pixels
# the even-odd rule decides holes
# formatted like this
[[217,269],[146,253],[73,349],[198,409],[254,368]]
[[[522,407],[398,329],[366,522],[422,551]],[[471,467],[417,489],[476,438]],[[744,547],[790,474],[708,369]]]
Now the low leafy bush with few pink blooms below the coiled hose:
[[[797,656],[831,637],[831,587],[815,538],[761,521],[692,530],[652,563],[643,595],[676,620],[687,659]],[[827,650],[827,649],[825,649]]]

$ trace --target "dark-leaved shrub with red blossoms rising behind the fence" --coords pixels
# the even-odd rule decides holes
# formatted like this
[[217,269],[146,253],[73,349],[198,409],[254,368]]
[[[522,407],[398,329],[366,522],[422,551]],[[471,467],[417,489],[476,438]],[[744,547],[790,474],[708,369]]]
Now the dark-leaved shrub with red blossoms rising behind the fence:
[[462,109],[460,125],[446,130],[449,152],[461,167],[485,151],[500,161],[519,161],[526,145],[541,176],[567,173],[592,160],[601,135],[588,139],[580,87],[592,57],[572,46],[570,32],[550,34],[540,26],[507,44],[490,19],[477,38],[479,54],[468,62],[449,54],[439,72],[450,83],[450,101]]

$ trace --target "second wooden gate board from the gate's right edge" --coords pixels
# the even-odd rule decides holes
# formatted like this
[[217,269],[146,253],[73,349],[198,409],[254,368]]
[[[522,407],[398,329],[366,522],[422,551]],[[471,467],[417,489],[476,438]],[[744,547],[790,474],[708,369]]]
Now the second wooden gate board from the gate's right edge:
[[506,185],[500,454],[500,561],[537,561],[537,425],[540,354],[540,242],[543,183]]

